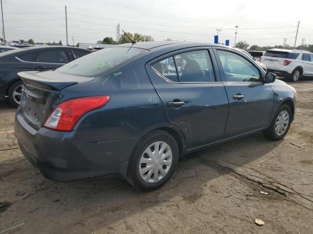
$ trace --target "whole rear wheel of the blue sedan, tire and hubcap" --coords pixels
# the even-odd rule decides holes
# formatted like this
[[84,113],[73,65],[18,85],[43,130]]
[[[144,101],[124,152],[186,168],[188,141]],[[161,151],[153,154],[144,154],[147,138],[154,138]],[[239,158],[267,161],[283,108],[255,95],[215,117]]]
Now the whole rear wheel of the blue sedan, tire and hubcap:
[[135,146],[127,180],[140,190],[155,190],[171,178],[178,158],[179,150],[174,137],[165,131],[153,131]]

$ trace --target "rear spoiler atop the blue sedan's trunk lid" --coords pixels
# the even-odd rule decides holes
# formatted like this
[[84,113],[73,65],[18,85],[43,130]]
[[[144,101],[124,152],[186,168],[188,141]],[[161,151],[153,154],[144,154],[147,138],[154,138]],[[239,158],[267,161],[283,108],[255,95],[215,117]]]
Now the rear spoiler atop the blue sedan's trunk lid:
[[68,86],[78,83],[78,81],[64,81],[47,78],[45,72],[19,72],[18,76],[26,84],[55,91],[60,91]]

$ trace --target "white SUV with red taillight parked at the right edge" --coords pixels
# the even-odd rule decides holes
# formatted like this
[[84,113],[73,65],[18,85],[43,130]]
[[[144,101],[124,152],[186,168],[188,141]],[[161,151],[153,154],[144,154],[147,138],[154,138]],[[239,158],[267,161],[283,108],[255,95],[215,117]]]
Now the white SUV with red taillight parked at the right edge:
[[261,57],[267,71],[280,77],[290,78],[292,82],[301,76],[313,76],[313,53],[303,50],[267,50]]

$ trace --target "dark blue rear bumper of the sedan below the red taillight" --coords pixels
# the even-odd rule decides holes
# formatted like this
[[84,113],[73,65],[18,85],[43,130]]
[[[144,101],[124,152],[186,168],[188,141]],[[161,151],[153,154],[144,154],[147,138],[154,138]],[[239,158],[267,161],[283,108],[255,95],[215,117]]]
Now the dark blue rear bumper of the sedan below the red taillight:
[[[48,179],[70,181],[99,176],[126,175],[137,138],[91,143],[80,134],[29,126],[18,109],[14,132],[22,154]],[[124,166],[123,166],[124,165]]]

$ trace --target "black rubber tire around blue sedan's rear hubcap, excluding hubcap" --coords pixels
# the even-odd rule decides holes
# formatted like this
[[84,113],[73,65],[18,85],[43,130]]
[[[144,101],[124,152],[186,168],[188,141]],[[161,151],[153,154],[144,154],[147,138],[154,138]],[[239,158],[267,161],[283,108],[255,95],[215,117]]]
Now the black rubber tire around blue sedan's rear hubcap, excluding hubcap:
[[[153,143],[163,141],[167,143],[172,151],[172,165],[167,174],[159,181],[148,183],[141,178],[139,173],[139,162],[144,151]],[[152,191],[164,185],[173,175],[179,159],[179,149],[175,138],[169,133],[162,130],[155,130],[142,137],[136,146],[129,160],[127,170],[127,181],[135,188],[142,191]]]

